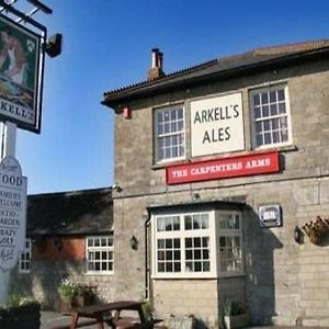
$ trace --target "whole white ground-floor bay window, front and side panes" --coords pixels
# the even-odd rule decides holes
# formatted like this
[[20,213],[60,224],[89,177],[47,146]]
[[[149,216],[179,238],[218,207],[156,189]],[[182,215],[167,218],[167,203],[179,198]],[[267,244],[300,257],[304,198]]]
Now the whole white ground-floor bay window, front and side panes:
[[154,216],[157,277],[215,277],[242,271],[241,216],[207,209]]

